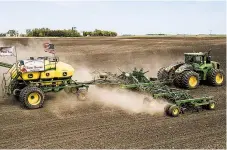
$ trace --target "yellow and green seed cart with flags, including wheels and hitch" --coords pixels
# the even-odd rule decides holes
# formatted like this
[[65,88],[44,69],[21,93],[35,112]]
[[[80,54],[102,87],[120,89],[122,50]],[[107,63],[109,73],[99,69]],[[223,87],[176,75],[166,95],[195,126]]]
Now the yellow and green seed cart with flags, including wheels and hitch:
[[[53,45],[47,43],[47,47],[45,51],[53,53]],[[17,60],[16,50],[14,51],[15,55],[12,48],[0,47],[1,56],[16,56]],[[4,95],[14,95],[27,108],[42,107],[45,93],[59,92],[63,89],[76,94],[79,100],[86,99],[88,83],[73,81],[73,67],[59,61],[55,55],[30,57],[30,59],[17,60],[14,64],[0,62],[0,66],[9,68],[6,73],[3,73]]]

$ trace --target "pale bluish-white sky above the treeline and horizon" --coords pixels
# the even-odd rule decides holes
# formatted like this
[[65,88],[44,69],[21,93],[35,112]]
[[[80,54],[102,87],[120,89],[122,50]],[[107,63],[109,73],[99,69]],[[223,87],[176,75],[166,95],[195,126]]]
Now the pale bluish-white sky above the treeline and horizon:
[[226,34],[226,1],[1,1],[0,33],[50,28],[118,34]]

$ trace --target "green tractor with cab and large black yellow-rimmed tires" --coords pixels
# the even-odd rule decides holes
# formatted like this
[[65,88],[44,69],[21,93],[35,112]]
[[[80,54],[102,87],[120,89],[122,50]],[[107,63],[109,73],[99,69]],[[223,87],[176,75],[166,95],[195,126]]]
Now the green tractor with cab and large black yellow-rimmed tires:
[[225,81],[220,63],[211,61],[209,52],[184,53],[185,62],[161,68],[158,80],[172,80],[176,87],[195,89],[201,81],[212,86],[221,86]]

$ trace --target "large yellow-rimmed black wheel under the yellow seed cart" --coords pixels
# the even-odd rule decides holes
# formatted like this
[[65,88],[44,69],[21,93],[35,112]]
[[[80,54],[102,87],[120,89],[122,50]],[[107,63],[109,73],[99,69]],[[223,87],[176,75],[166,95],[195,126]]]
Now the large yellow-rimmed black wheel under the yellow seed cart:
[[44,92],[38,87],[27,86],[20,92],[19,99],[29,109],[41,108],[44,103]]

